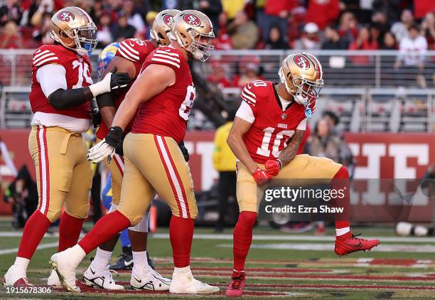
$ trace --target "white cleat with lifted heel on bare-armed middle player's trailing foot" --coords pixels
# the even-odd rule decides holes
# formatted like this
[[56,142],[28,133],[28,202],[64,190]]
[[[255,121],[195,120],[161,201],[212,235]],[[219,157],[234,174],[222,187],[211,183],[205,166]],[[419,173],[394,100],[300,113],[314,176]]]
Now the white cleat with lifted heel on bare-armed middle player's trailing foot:
[[51,258],[49,263],[53,270],[58,273],[60,284],[62,284],[68,291],[73,291],[74,293],[80,293],[80,287],[75,285],[75,265],[71,263],[68,250],[64,250],[59,253],[55,253]]

